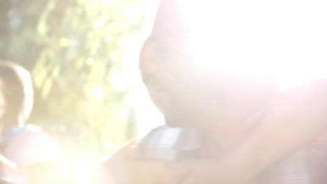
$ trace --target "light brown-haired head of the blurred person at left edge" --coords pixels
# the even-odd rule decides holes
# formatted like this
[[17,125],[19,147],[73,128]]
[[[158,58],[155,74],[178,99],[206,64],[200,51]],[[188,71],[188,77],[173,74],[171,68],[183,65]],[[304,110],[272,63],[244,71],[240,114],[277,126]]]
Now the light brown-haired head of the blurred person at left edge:
[[1,93],[5,108],[0,116],[3,128],[25,123],[33,106],[33,86],[29,72],[21,66],[0,62]]

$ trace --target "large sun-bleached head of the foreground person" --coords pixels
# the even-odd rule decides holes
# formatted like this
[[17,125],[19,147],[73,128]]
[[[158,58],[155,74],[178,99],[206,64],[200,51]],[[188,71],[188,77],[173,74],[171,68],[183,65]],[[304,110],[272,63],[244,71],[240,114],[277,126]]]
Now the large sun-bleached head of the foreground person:
[[175,28],[167,22],[175,22],[178,17],[163,21],[163,15],[170,12],[169,8],[162,7],[174,6],[166,4],[173,2],[163,0],[159,6],[159,18],[154,23],[152,35],[140,52],[143,81],[168,125],[193,126],[219,118],[242,119],[273,99],[278,93],[273,79],[223,74],[219,68],[201,68],[198,66],[201,60],[188,50],[184,38],[178,34],[165,35],[165,29],[172,33]]

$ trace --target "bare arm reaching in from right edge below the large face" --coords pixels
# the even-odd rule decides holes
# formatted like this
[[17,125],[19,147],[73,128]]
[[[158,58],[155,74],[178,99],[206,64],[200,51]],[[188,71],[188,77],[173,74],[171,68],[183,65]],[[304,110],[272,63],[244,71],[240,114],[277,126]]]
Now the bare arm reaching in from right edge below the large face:
[[319,135],[326,124],[327,80],[319,80],[280,95],[259,127],[221,160],[175,166],[177,178],[183,184],[245,183]]

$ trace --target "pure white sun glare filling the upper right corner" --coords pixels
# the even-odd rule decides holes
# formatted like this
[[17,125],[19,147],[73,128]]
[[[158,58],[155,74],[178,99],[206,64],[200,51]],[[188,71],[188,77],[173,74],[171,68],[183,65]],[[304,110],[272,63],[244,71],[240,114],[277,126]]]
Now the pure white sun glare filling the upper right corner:
[[276,77],[281,90],[327,77],[326,2],[184,0],[201,66]]

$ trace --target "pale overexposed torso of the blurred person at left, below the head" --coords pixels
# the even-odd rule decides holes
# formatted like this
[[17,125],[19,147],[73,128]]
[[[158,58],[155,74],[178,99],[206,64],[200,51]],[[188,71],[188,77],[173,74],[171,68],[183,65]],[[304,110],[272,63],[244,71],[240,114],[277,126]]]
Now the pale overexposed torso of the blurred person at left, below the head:
[[3,155],[15,161],[25,183],[64,183],[65,160],[61,146],[36,125],[10,128],[2,135]]

